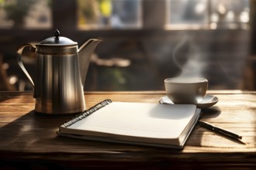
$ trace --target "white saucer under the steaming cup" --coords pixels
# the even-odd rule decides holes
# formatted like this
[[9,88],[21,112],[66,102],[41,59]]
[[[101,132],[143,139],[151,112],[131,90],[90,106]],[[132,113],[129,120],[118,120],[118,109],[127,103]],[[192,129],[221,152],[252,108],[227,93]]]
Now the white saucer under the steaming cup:
[[[212,107],[219,101],[218,97],[206,94],[206,97],[202,99],[198,104],[195,104],[196,107],[200,109],[206,109],[208,107]],[[167,96],[161,97],[159,100],[160,104],[174,104]]]

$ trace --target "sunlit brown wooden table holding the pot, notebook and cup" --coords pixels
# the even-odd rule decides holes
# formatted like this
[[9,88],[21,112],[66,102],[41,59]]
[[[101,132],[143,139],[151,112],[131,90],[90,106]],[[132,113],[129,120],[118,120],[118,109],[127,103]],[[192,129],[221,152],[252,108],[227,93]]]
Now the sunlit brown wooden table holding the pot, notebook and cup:
[[[58,126],[74,115],[33,111],[33,93],[0,92],[0,169],[109,167],[256,168],[256,93],[209,91],[219,102],[203,110],[203,121],[243,136],[245,145],[195,126],[183,150],[112,144],[59,137]],[[164,91],[85,93],[86,107],[113,101],[157,103]]]

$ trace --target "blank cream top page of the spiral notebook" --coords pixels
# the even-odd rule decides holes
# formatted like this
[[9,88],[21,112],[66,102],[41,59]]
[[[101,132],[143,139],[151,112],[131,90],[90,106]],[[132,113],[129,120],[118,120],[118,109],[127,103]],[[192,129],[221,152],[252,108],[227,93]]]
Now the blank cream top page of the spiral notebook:
[[68,128],[145,138],[178,138],[195,109],[195,105],[189,104],[113,102]]

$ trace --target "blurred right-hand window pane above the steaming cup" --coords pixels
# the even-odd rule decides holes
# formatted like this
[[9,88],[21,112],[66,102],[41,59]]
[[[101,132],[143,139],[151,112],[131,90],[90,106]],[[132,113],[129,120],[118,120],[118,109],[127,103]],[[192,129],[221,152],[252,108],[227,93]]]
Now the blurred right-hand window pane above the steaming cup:
[[166,0],[166,29],[248,29],[249,0]]

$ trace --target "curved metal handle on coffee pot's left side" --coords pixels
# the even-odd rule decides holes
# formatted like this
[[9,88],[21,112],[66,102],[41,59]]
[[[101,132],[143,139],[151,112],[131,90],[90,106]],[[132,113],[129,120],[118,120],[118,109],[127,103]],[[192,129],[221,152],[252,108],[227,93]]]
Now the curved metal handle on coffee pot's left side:
[[33,52],[33,53],[36,53],[36,48],[33,47],[32,45],[30,44],[22,44],[21,46],[19,46],[19,48],[17,49],[16,53],[17,53],[17,61],[18,61],[18,64],[19,64],[19,67],[22,69],[22,71],[26,74],[26,76],[28,77],[30,83],[32,84],[33,88],[35,88],[35,84],[31,78],[31,76],[29,75],[29,73],[27,72],[25,66],[23,65],[22,63],[22,51],[25,47],[29,47],[29,49]]

